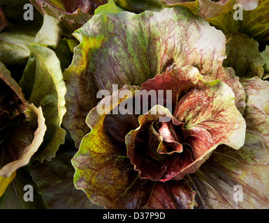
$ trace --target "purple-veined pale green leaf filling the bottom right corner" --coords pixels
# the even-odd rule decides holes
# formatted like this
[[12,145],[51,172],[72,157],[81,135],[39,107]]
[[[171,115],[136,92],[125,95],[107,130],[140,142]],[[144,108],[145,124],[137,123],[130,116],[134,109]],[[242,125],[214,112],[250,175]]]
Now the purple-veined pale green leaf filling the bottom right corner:
[[[245,145],[239,151],[217,148],[191,176],[201,208],[268,208],[269,84],[258,77],[241,79],[247,94]],[[235,185],[243,201],[235,201]]]

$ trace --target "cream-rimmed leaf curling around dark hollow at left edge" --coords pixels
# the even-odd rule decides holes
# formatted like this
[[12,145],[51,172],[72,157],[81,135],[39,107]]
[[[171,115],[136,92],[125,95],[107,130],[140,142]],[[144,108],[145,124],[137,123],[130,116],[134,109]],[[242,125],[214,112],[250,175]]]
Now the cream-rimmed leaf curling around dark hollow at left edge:
[[[1,77],[1,166],[0,197],[20,167],[29,164],[43,142],[47,129],[41,107],[24,98],[22,89],[0,62]],[[10,101],[12,104],[10,104]]]

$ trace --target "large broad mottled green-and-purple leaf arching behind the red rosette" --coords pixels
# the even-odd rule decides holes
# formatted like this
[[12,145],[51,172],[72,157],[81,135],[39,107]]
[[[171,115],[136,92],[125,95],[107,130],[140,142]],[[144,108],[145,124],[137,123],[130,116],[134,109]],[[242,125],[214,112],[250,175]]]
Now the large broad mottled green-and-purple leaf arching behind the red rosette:
[[[129,26],[129,21],[132,25]],[[187,8],[165,8],[138,15],[100,13],[73,34],[80,41],[71,66],[64,71],[66,107],[64,125],[78,147],[89,132],[85,118],[100,99],[100,89],[112,84],[138,85],[147,79],[192,65],[206,81],[220,79],[235,93],[242,113],[245,91],[232,68],[223,68],[226,38]]]

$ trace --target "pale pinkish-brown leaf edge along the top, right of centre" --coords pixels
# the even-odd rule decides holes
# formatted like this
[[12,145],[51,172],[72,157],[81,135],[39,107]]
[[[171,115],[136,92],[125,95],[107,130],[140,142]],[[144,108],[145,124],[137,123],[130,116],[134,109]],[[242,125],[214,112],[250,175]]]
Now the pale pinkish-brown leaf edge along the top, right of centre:
[[217,17],[219,15],[228,13],[233,9],[236,3],[240,3],[244,10],[254,10],[259,0],[244,1],[244,0],[223,0],[223,1],[210,1],[210,0],[162,0],[166,2],[168,6],[185,6],[189,8],[193,13],[203,18]]

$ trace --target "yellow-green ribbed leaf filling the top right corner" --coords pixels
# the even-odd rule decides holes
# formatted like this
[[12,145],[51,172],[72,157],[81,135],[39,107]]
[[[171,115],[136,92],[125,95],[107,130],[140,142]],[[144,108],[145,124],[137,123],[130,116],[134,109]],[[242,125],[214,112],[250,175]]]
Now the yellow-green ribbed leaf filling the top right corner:
[[251,11],[244,11],[243,20],[233,20],[232,10],[229,13],[208,19],[208,22],[224,33],[231,31],[247,33],[257,41],[269,40],[269,0],[261,0],[259,6]]

